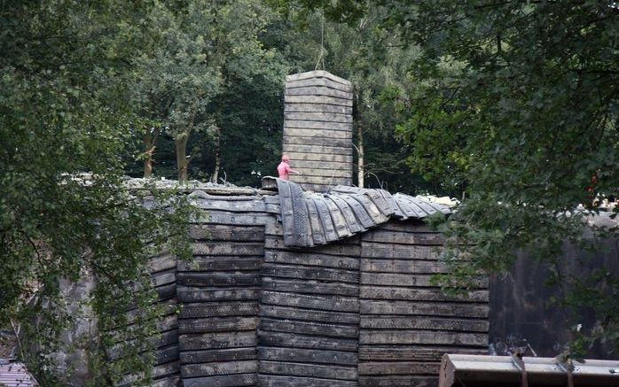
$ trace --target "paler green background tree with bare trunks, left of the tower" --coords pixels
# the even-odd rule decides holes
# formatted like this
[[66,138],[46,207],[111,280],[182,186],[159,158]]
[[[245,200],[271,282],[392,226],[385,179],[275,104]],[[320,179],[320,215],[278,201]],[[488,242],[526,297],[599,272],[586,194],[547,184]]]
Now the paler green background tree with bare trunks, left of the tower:
[[187,151],[192,133],[200,132],[215,143],[211,176],[216,182],[231,123],[224,117],[249,102],[244,97],[255,81],[264,78],[279,85],[285,74],[274,51],[265,50],[259,39],[271,17],[255,0],[155,3],[145,20],[147,44],[135,59],[140,117],[160,122],[145,126],[147,162],[153,138],[168,132],[175,139],[178,180],[186,181],[190,162],[202,156],[204,141],[194,141]]

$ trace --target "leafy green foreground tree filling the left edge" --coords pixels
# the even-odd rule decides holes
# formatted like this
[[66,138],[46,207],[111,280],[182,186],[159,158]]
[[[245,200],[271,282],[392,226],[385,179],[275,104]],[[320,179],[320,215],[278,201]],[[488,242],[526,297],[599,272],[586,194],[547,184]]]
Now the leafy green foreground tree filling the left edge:
[[[61,282],[97,279],[90,305],[100,322],[91,337],[100,345],[91,359],[98,359],[112,339],[108,329],[126,321],[129,306],[155,316],[144,242],[161,247],[168,236],[183,236],[187,213],[149,211],[122,185],[131,118],[127,65],[136,51],[129,26],[148,5],[0,4],[0,326],[26,332],[22,349],[36,352],[24,351],[24,360],[40,383],[64,385],[65,375],[50,372],[58,335],[73,318]],[[154,323],[133,333],[147,337]],[[148,357],[132,353],[93,368],[92,382],[151,369]]]

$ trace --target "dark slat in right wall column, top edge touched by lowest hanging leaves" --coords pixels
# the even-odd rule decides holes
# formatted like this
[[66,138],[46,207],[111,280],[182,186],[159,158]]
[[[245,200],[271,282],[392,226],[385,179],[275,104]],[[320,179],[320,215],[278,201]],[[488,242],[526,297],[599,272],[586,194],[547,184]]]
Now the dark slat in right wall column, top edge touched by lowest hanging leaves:
[[447,296],[440,288],[403,288],[395,286],[360,286],[359,298],[411,300],[411,301],[462,301],[488,302],[488,290],[472,290],[466,296]]

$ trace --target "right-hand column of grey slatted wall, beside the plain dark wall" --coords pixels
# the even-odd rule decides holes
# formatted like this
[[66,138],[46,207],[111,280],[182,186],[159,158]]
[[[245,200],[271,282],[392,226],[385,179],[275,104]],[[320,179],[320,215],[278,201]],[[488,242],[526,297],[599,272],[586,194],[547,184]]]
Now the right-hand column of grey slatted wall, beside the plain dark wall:
[[362,235],[359,386],[435,385],[443,353],[487,352],[488,283],[449,298],[442,236],[421,221],[391,221]]

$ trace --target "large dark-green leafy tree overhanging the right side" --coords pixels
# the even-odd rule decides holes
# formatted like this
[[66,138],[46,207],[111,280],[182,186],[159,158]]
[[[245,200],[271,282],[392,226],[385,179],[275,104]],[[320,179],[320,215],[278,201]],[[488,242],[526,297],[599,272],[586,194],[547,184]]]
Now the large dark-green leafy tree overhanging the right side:
[[[461,275],[505,271],[527,249],[552,270],[549,282],[568,290],[562,302],[576,318],[584,300],[595,300],[602,329],[586,333],[619,346],[619,313],[607,307],[616,279],[556,270],[566,239],[584,243],[585,213],[575,209],[591,206],[592,180],[595,192],[616,196],[619,9],[591,1],[373,4],[388,4],[382,25],[421,48],[409,63],[418,84],[395,101],[409,102],[397,132],[411,147],[409,164],[466,191],[441,226],[453,238],[454,272],[444,280],[461,285]],[[369,9],[349,0],[327,6],[349,23]]]

